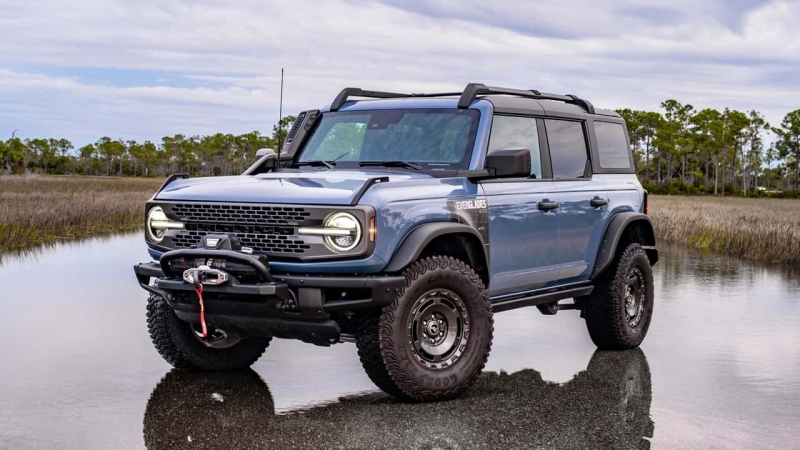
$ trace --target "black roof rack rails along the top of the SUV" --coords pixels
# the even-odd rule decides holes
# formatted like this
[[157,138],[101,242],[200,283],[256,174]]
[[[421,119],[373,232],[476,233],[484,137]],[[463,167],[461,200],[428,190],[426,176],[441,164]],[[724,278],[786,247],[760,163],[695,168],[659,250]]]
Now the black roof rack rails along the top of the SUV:
[[478,98],[479,95],[491,95],[491,94],[499,94],[499,95],[512,95],[517,97],[525,97],[525,98],[532,98],[536,100],[556,100],[565,103],[571,103],[573,105],[578,105],[589,114],[594,114],[594,106],[589,103],[587,100],[584,100],[577,95],[559,95],[559,94],[548,94],[545,92],[539,92],[535,89],[531,90],[523,90],[523,89],[509,89],[509,88],[502,88],[502,87],[494,87],[494,86],[486,86],[482,83],[469,83],[467,87],[464,88],[462,92],[440,92],[440,93],[432,93],[432,94],[399,94],[396,92],[380,92],[380,91],[365,91],[359,88],[344,88],[342,92],[339,92],[339,95],[333,100],[331,103],[331,111],[338,111],[347,103],[350,97],[366,97],[366,98],[409,98],[409,97],[446,97],[446,96],[453,96],[459,95],[458,99],[458,107],[460,109],[469,108],[469,105]]

